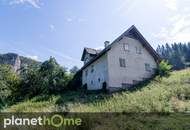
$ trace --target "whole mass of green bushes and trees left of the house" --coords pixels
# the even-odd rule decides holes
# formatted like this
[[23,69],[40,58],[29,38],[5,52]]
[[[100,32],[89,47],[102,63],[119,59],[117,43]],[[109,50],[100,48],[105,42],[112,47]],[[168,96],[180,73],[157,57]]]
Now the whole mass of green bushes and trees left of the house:
[[[68,90],[74,72],[68,73],[51,57],[41,65],[23,66],[20,74],[10,65],[0,65],[0,108],[39,95],[56,95]],[[75,67],[76,70],[76,67]]]

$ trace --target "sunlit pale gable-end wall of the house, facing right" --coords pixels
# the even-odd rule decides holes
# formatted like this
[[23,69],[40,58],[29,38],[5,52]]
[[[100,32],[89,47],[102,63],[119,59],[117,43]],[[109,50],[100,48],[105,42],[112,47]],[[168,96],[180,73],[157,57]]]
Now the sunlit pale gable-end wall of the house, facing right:
[[[124,51],[123,43],[128,43],[129,51]],[[136,54],[136,47],[140,47],[142,54]],[[151,68],[157,68],[157,64],[150,53],[135,39],[123,37],[118,43],[113,44],[108,55],[108,85],[113,88],[122,87],[122,83],[134,84],[133,80],[142,81],[150,78],[154,71],[147,72],[145,63]],[[126,68],[120,67],[119,58],[126,61]]]

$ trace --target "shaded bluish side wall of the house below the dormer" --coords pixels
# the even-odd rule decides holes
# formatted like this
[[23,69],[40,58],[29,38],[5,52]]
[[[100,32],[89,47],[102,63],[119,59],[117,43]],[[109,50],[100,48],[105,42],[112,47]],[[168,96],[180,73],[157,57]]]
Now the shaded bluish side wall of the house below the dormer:
[[[92,66],[94,66],[94,72],[91,72]],[[87,76],[85,74],[86,70],[88,70]],[[98,79],[100,79],[100,81]],[[89,65],[82,72],[82,84],[87,84],[88,90],[101,89],[102,84],[105,81],[108,81],[107,54],[101,56],[98,60]]]

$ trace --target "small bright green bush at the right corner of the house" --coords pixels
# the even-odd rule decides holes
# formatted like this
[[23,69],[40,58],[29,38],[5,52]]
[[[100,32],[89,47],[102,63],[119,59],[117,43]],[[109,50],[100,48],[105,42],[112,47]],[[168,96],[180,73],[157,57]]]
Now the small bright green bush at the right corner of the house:
[[163,60],[159,64],[158,73],[160,77],[169,76],[171,69],[172,69],[172,65],[170,65],[168,61]]

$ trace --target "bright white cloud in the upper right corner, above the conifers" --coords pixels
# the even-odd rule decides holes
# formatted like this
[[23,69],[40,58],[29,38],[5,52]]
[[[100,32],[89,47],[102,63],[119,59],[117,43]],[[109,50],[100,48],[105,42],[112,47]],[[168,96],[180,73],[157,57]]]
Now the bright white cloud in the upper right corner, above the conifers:
[[164,42],[188,42],[190,41],[190,1],[186,0],[164,0],[171,14],[165,20],[167,25],[163,26],[153,36]]

